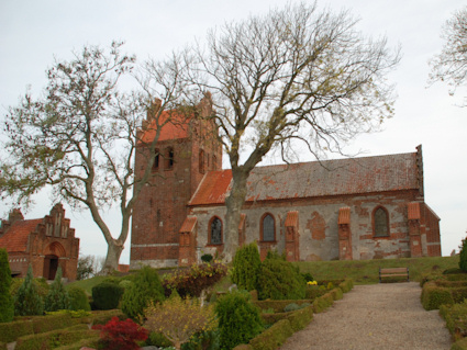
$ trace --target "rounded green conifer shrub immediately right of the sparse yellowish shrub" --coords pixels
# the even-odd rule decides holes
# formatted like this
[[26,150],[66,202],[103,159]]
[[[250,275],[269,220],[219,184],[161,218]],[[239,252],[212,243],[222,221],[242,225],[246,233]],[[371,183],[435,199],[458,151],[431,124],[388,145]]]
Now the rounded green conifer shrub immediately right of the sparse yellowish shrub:
[[246,343],[263,330],[259,311],[251,303],[249,297],[246,292],[233,292],[218,301],[215,313],[221,349],[233,349]]

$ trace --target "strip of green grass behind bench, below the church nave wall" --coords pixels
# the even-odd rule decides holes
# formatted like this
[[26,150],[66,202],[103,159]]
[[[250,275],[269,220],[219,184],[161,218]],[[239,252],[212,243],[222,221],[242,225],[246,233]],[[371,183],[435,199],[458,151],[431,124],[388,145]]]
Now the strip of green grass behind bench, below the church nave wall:
[[351,261],[301,261],[294,262],[300,272],[310,272],[320,280],[351,278],[356,284],[379,282],[379,268],[409,268],[411,281],[420,281],[423,274],[442,273],[446,269],[458,268],[459,257],[404,258]]

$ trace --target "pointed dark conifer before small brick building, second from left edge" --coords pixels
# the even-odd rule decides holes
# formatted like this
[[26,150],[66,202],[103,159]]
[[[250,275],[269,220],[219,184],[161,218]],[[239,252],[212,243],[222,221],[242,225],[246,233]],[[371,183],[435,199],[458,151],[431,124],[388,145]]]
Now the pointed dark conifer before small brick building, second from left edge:
[[14,314],[16,316],[34,316],[44,314],[44,301],[37,293],[33,269],[27,268],[26,278],[14,295]]

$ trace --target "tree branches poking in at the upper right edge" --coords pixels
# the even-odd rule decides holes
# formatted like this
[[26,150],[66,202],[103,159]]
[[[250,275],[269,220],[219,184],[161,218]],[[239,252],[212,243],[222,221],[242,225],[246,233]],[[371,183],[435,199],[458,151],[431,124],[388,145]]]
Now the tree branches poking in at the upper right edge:
[[456,89],[467,82],[467,7],[454,13],[442,30],[445,39],[441,54],[436,55],[430,66],[431,82],[446,81],[454,94]]

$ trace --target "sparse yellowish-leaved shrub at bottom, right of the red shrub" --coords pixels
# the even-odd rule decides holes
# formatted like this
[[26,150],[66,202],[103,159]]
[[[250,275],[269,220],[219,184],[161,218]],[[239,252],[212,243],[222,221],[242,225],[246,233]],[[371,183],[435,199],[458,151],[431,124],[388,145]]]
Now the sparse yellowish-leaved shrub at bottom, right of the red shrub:
[[215,326],[212,307],[201,307],[198,300],[181,298],[174,293],[163,304],[152,303],[145,311],[145,327],[162,332],[176,349],[194,334],[213,329]]

